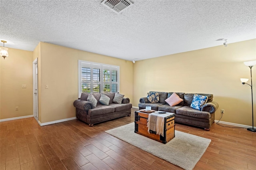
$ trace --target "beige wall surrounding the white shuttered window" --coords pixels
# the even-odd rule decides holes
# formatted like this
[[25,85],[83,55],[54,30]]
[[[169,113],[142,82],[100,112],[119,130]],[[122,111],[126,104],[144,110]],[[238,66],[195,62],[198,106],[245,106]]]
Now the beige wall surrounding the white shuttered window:
[[[120,93],[132,103],[132,62],[80,51],[50,43],[40,43],[41,123],[75,117],[78,98],[78,59],[120,66]],[[48,89],[45,89],[48,85]]]

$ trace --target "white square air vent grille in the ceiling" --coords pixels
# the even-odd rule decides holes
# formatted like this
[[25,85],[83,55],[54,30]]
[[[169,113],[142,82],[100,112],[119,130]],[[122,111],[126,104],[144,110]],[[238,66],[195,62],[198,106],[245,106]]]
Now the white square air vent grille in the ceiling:
[[103,0],[101,4],[117,14],[133,5],[130,0]]

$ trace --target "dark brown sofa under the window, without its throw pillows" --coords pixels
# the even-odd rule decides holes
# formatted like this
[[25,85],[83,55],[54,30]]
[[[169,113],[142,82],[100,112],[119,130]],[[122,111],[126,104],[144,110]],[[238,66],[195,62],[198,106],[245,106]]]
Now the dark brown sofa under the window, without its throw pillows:
[[109,105],[102,105],[99,100],[101,93],[92,94],[97,100],[97,106],[87,101],[89,93],[82,93],[78,100],[74,101],[76,118],[93,126],[95,123],[108,121],[118,117],[130,116],[132,104],[129,98],[123,98],[122,103],[113,103],[115,93],[104,93],[110,98]]

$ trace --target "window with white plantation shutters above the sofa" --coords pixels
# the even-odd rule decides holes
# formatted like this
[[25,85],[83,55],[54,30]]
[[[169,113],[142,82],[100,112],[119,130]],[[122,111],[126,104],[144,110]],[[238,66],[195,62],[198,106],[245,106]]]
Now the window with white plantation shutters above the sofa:
[[78,60],[78,75],[78,97],[119,91],[119,66]]

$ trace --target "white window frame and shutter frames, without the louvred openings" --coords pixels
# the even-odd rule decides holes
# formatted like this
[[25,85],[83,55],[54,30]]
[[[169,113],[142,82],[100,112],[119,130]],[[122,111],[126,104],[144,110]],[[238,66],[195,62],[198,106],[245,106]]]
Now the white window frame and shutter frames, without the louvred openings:
[[[93,81],[93,69],[100,69],[100,81],[97,82],[100,84],[100,91],[98,93],[104,92],[104,84],[110,84],[110,92],[112,92],[112,84],[117,84],[117,91],[120,89],[120,66],[118,65],[108,65],[104,63],[96,63],[91,61],[78,60],[78,97],[81,97],[82,94],[82,67],[90,67],[91,75],[90,75],[90,93],[93,93],[93,84],[96,84]],[[110,70],[110,81],[103,81],[103,71],[104,69]],[[112,70],[117,71],[117,82],[112,82]],[[96,92],[97,93],[97,92]]]

